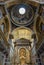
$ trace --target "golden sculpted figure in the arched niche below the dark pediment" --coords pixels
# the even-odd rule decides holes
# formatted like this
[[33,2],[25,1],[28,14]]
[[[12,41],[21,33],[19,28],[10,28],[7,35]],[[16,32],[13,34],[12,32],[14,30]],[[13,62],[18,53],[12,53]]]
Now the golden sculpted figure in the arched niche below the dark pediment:
[[20,64],[26,65],[26,49],[25,48],[20,49],[19,57],[20,57]]

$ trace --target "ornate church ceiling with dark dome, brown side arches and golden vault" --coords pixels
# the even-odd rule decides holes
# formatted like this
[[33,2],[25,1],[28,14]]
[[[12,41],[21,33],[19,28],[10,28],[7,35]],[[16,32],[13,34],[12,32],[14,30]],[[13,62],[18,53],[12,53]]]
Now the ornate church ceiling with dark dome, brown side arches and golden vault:
[[[23,13],[20,12],[22,9]],[[15,41],[20,38],[31,40],[34,33],[37,41],[40,41],[44,36],[43,13],[44,6],[42,7],[40,2],[0,1],[0,39],[4,39],[6,44],[9,44],[10,34]]]

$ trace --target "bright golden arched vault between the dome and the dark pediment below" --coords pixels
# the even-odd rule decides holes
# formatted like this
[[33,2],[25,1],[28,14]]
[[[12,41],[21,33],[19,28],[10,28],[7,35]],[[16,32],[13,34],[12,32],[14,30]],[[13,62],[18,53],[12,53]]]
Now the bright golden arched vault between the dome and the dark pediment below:
[[30,28],[19,27],[19,28],[14,29],[11,34],[14,37],[13,39],[14,42],[21,38],[32,41],[32,35],[34,34],[34,32]]

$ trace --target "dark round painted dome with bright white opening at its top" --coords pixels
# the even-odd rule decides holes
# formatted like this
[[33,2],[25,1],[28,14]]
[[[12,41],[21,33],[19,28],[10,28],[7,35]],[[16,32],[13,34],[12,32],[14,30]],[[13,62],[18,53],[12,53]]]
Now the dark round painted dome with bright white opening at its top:
[[16,4],[11,9],[11,21],[16,26],[27,26],[34,17],[33,8],[27,4]]

